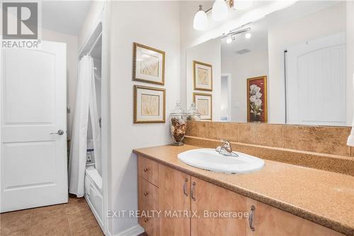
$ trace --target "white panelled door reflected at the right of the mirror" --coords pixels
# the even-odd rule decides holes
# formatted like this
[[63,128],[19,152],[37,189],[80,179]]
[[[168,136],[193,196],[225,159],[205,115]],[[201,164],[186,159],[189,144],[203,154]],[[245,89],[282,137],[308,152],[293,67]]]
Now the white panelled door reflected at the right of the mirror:
[[346,125],[346,34],[287,49],[287,123]]

